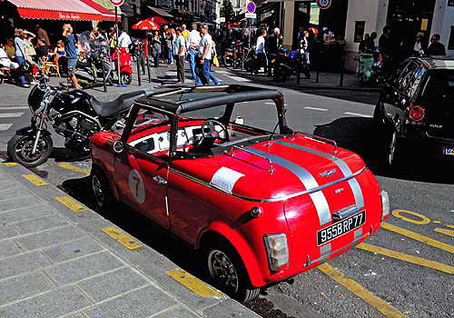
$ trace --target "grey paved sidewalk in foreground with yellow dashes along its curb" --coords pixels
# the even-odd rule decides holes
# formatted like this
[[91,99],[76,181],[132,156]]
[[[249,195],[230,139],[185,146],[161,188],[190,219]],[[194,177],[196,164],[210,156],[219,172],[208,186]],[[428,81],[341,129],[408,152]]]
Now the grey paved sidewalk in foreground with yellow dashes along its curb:
[[259,317],[15,163],[0,163],[0,317]]

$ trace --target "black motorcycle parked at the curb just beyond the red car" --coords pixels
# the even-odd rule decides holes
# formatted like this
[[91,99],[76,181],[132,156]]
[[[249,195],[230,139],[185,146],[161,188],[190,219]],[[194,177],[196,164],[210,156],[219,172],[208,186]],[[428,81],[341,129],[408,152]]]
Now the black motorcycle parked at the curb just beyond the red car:
[[110,102],[99,102],[81,90],[67,91],[48,84],[44,77],[30,92],[30,126],[19,129],[8,142],[9,157],[24,166],[43,164],[52,153],[51,124],[64,136],[64,146],[77,154],[89,154],[90,137],[101,130],[113,130],[128,114],[133,101],[152,92],[136,91],[119,95]]

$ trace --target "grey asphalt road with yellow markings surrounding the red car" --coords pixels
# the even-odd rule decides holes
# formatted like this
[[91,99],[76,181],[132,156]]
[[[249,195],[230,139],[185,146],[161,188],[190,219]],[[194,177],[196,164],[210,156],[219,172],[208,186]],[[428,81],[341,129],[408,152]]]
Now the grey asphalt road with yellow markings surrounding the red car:
[[[225,70],[218,75],[224,84],[252,84]],[[165,70],[159,77],[169,80],[173,72]],[[280,283],[269,288],[250,307],[264,317],[454,316],[452,166],[421,159],[424,151],[415,149],[399,173],[382,174],[376,158],[380,136],[371,124],[378,94],[301,92],[286,88],[281,91],[291,127],[329,137],[361,154],[381,187],[390,194],[393,213],[379,233],[366,242],[369,245],[361,245],[327,265],[301,273],[293,284]],[[8,97],[1,97],[0,127],[28,124],[26,109],[5,108],[25,106],[19,104],[21,98],[26,100],[26,96],[12,95],[14,101],[8,103]],[[24,114],[2,116],[5,113]],[[268,104],[250,103],[238,115],[244,117],[246,124],[267,128],[276,122],[274,110]],[[0,132],[0,151],[5,150],[1,145],[13,133],[13,126]],[[93,206],[86,177],[90,162],[68,163],[68,159],[60,145],[53,158],[34,171]],[[143,216],[124,207],[118,210],[102,214],[186,270],[198,273],[198,263],[184,244],[159,231]]]

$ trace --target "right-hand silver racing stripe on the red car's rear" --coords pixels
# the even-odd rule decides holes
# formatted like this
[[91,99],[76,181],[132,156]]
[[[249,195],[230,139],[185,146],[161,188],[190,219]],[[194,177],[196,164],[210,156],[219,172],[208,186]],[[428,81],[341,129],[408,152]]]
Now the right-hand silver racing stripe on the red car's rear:
[[[275,141],[274,143],[275,144],[285,145],[285,146],[288,146],[288,147],[291,147],[291,148],[294,148],[294,149],[298,149],[298,150],[301,150],[301,151],[304,151],[304,152],[307,152],[307,153],[315,154],[315,155],[318,155],[318,156],[323,157],[325,159],[331,160],[331,162],[336,164],[339,167],[339,169],[341,169],[341,172],[344,175],[344,177],[347,177],[347,176],[352,174],[349,165],[346,164],[341,158],[336,157],[336,156],[334,156],[332,154],[323,153],[320,150],[316,150],[316,149],[312,149],[312,148],[309,148],[309,147],[305,147],[305,146],[300,145],[300,144],[291,144],[291,143],[282,142],[282,141],[279,141],[279,140]],[[362,196],[362,191],[361,191],[360,184],[358,183],[358,181],[355,178],[351,178],[349,180],[349,184],[350,184],[351,191],[353,192],[353,196],[355,197],[356,206],[359,207],[359,208],[362,208],[364,206],[364,197]]]

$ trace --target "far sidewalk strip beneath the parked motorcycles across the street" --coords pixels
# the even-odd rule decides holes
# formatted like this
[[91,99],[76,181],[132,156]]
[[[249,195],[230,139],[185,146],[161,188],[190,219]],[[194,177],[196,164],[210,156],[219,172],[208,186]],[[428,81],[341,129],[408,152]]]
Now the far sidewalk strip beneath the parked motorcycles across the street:
[[341,86],[341,74],[320,72],[319,83],[316,81],[317,72],[311,70],[311,78],[306,79],[301,73],[300,84],[297,84],[296,75],[291,75],[285,83],[274,82],[271,76],[260,73],[252,75],[245,70],[229,68],[230,71],[237,75],[251,79],[260,84],[269,84],[272,86],[281,86],[296,89],[318,89],[318,90],[347,90],[347,91],[364,91],[364,92],[379,92],[380,87],[370,86],[369,84],[361,84],[360,78],[357,75],[345,73],[343,75],[343,83]]

